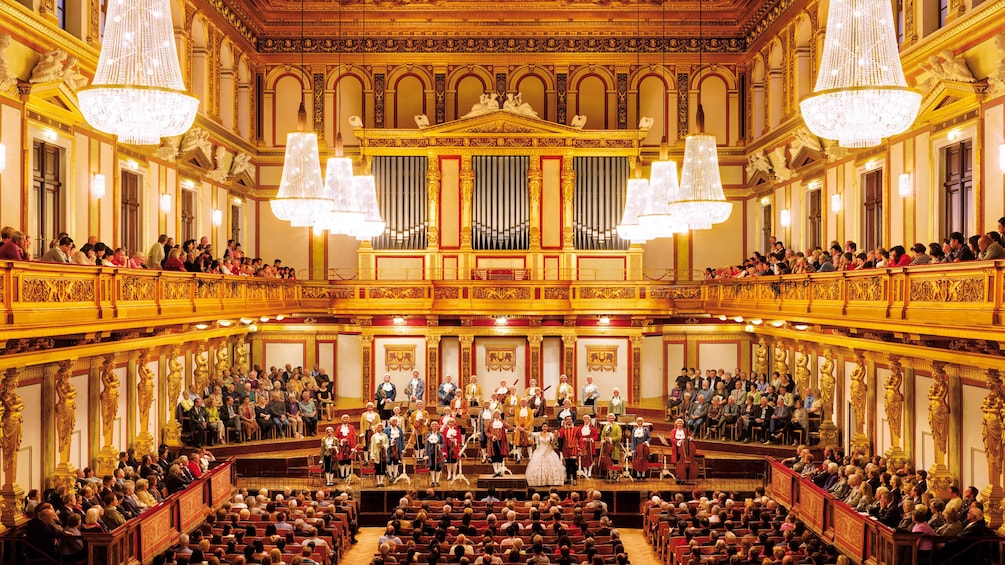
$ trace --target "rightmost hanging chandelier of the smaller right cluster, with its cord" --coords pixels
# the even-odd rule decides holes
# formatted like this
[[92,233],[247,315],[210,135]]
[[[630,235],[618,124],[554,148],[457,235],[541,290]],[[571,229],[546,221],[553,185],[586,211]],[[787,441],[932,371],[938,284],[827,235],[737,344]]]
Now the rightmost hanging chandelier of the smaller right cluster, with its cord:
[[[697,67],[701,71],[701,52],[705,50],[701,33],[701,2],[698,0],[698,50]],[[684,140],[684,164],[680,171],[680,190],[669,203],[670,213],[677,221],[684,221],[691,229],[708,229],[730,217],[733,203],[723,193],[723,180],[719,175],[719,150],[716,136],[705,134],[705,110],[698,103],[694,113],[696,134]]]

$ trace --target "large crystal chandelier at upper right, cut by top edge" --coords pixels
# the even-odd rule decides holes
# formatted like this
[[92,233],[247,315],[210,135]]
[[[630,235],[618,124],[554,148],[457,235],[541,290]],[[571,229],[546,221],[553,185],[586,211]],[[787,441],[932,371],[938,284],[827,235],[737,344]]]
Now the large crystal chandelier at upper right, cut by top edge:
[[921,104],[903,78],[889,2],[833,0],[816,86],[799,104],[810,131],[871,147],[910,128]]

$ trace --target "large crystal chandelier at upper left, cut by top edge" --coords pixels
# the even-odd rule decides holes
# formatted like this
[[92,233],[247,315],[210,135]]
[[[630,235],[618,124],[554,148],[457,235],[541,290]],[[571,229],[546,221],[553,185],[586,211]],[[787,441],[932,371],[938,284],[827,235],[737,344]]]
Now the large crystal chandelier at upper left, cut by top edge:
[[77,91],[91,127],[132,145],[157,145],[192,127],[199,101],[185,92],[168,0],[108,3],[94,80]]

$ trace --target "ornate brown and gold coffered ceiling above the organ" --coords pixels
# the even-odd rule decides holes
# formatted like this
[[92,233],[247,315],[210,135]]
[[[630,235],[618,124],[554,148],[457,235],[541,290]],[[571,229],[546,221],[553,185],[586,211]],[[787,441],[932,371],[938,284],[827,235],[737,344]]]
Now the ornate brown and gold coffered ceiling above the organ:
[[[699,45],[693,0],[203,1],[266,53],[298,50],[301,7],[307,52],[658,53]],[[703,50],[743,52],[794,3],[702,2]]]

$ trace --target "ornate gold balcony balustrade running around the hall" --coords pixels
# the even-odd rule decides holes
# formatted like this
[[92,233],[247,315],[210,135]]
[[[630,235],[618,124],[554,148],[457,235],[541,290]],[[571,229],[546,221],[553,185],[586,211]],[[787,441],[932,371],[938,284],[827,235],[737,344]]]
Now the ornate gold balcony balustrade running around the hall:
[[0,262],[0,330],[37,337],[279,314],[712,316],[972,339],[1001,325],[1005,261],[692,284],[269,280]]

